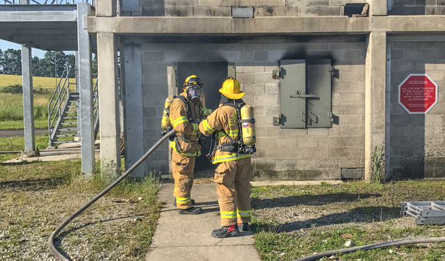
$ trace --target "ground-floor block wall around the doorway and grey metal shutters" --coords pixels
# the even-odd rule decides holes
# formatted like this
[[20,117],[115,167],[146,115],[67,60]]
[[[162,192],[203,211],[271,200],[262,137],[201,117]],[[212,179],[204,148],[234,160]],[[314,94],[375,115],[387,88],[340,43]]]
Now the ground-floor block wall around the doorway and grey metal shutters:
[[[256,180],[339,180],[341,171],[364,168],[365,42],[298,42],[256,38],[223,44],[142,45],[145,146],[160,137],[163,101],[171,87],[175,62],[236,63],[236,79],[254,106],[257,150],[252,164]],[[334,124],[325,129],[280,129],[280,81],[272,78],[280,60],[332,58],[339,78],[332,79]],[[148,84],[149,83],[149,84]],[[156,136],[155,136],[156,135]],[[153,139],[156,137],[156,139]],[[156,153],[149,169],[168,169],[168,148]]]

